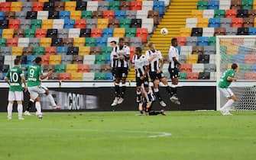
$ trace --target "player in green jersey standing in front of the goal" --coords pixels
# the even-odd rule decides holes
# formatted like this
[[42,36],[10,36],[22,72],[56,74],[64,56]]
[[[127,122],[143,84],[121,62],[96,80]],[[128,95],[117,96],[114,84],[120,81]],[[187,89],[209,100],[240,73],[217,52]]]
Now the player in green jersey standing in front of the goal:
[[223,115],[232,115],[230,114],[229,110],[232,107],[234,101],[236,101],[235,94],[233,94],[232,90],[229,87],[233,81],[236,81],[235,72],[238,71],[238,65],[233,63],[231,69],[226,70],[219,81],[219,91],[228,98],[228,101],[224,106],[220,109]]

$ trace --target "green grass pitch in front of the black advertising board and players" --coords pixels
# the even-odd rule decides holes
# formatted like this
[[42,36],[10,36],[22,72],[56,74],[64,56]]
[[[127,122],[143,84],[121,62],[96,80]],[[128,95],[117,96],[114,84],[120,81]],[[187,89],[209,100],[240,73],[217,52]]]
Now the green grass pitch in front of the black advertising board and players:
[[[0,114],[0,159],[256,159],[256,112],[45,113],[8,121]],[[171,133],[171,136],[170,136]]]

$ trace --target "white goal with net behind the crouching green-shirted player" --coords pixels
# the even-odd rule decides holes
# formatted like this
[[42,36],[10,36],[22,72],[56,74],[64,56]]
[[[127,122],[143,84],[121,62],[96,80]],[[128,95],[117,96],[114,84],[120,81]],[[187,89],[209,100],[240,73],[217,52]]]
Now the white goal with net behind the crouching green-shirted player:
[[[238,101],[233,104],[234,110],[256,110],[256,36],[217,36],[216,37],[216,78],[217,85],[223,72],[238,64],[232,89]],[[227,99],[216,90],[217,110]]]

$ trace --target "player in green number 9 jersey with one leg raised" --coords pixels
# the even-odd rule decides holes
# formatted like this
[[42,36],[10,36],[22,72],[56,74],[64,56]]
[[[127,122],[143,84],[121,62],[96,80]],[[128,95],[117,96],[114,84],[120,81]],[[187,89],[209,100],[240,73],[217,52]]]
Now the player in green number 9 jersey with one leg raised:
[[42,63],[41,57],[37,57],[36,59],[34,59],[34,64],[31,66],[28,66],[28,91],[30,93],[31,98],[28,102],[27,110],[24,113],[24,115],[31,115],[29,113],[29,110],[32,107],[32,104],[34,103],[34,101],[36,101],[35,103],[35,107],[37,109],[36,114],[39,118],[43,117],[43,114],[41,112],[39,94],[46,94],[53,108],[60,109],[60,106],[57,106],[57,104],[53,99],[53,96],[50,94],[49,89],[41,85],[41,80],[53,74],[53,71],[50,71],[46,75],[43,75],[43,72],[41,69],[41,63]]

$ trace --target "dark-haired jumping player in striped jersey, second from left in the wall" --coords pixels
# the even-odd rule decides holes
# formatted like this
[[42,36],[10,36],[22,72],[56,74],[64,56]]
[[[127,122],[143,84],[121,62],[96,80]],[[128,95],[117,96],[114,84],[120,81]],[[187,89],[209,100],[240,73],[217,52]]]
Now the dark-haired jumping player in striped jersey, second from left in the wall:
[[[130,48],[125,45],[124,38],[119,38],[117,54],[117,64],[115,73],[115,99],[111,104],[112,107],[117,104],[122,104],[125,98],[125,82],[128,75],[129,59],[130,59]],[[122,88],[120,91],[119,84],[122,82]]]

